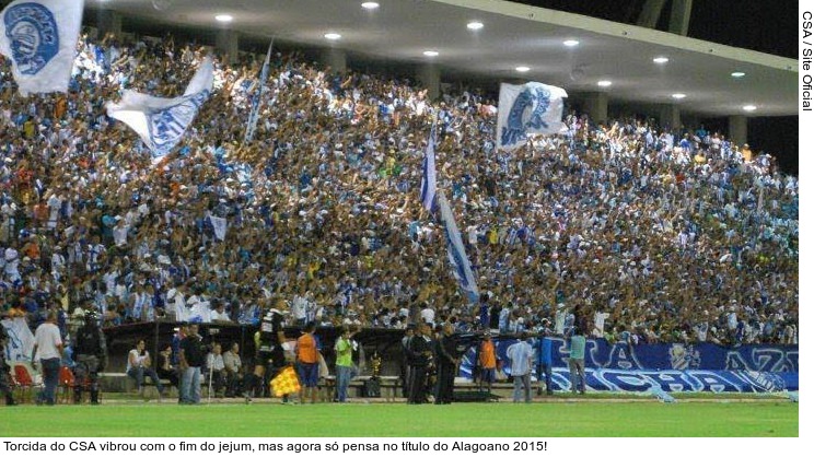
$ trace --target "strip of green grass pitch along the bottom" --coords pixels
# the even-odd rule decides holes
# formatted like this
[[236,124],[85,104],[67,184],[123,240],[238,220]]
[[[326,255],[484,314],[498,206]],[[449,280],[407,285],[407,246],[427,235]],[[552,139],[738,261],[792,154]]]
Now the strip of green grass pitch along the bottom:
[[[164,403],[0,407],[0,436],[544,436],[799,435],[798,403],[590,400],[532,405]],[[284,418],[284,420],[281,420]]]

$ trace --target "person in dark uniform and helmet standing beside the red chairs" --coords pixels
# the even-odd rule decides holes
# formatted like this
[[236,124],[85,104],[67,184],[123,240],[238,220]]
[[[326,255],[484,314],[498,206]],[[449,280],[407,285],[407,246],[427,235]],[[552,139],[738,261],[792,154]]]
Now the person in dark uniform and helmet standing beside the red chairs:
[[84,325],[77,330],[73,345],[73,402],[82,401],[82,390],[88,386],[91,403],[98,405],[98,372],[107,366],[107,343],[98,326],[98,314],[86,310]]

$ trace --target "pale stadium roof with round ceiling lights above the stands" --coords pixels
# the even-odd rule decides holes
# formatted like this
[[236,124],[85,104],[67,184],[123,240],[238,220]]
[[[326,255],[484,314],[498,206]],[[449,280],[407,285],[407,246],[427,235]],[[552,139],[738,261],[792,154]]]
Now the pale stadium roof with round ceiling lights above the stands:
[[[606,92],[612,102],[677,103],[683,112],[710,116],[798,113],[794,59],[508,1],[376,0],[375,9],[362,8],[363,2],[88,0],[90,7],[168,24],[225,26],[382,59],[432,61],[445,72]],[[222,14],[232,21],[216,21]],[[469,28],[470,22],[482,27]],[[330,40],[326,34],[339,37]],[[569,47],[567,40],[579,44]],[[656,63],[656,57],[670,60]],[[519,72],[520,67],[528,70]],[[745,74],[732,75],[737,72]],[[601,87],[600,81],[612,84]],[[747,105],[755,109],[744,110]]]

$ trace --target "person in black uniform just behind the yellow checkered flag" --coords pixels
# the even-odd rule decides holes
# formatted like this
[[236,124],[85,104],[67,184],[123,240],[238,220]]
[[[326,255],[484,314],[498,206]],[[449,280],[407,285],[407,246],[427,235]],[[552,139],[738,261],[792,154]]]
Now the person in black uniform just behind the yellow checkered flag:
[[[261,392],[266,384],[266,366],[270,367],[268,378],[274,378],[277,373],[286,366],[286,353],[282,343],[286,342],[286,333],[282,330],[282,310],[286,302],[278,300],[275,307],[268,310],[260,323],[259,338],[255,340],[257,355],[255,358],[254,373],[246,375],[246,390],[244,392],[246,402],[252,401],[252,392]],[[283,402],[288,396],[283,397]]]

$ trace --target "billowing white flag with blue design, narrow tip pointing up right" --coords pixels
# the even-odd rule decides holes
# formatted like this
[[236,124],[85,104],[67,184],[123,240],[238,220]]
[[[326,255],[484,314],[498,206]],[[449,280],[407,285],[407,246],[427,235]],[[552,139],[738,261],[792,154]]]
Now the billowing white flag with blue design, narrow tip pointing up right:
[[206,58],[184,96],[159,98],[125,91],[119,103],[107,104],[107,116],[133,129],[150,149],[155,163],[181,142],[201,105],[209,98],[213,81],[214,67],[212,60]]

